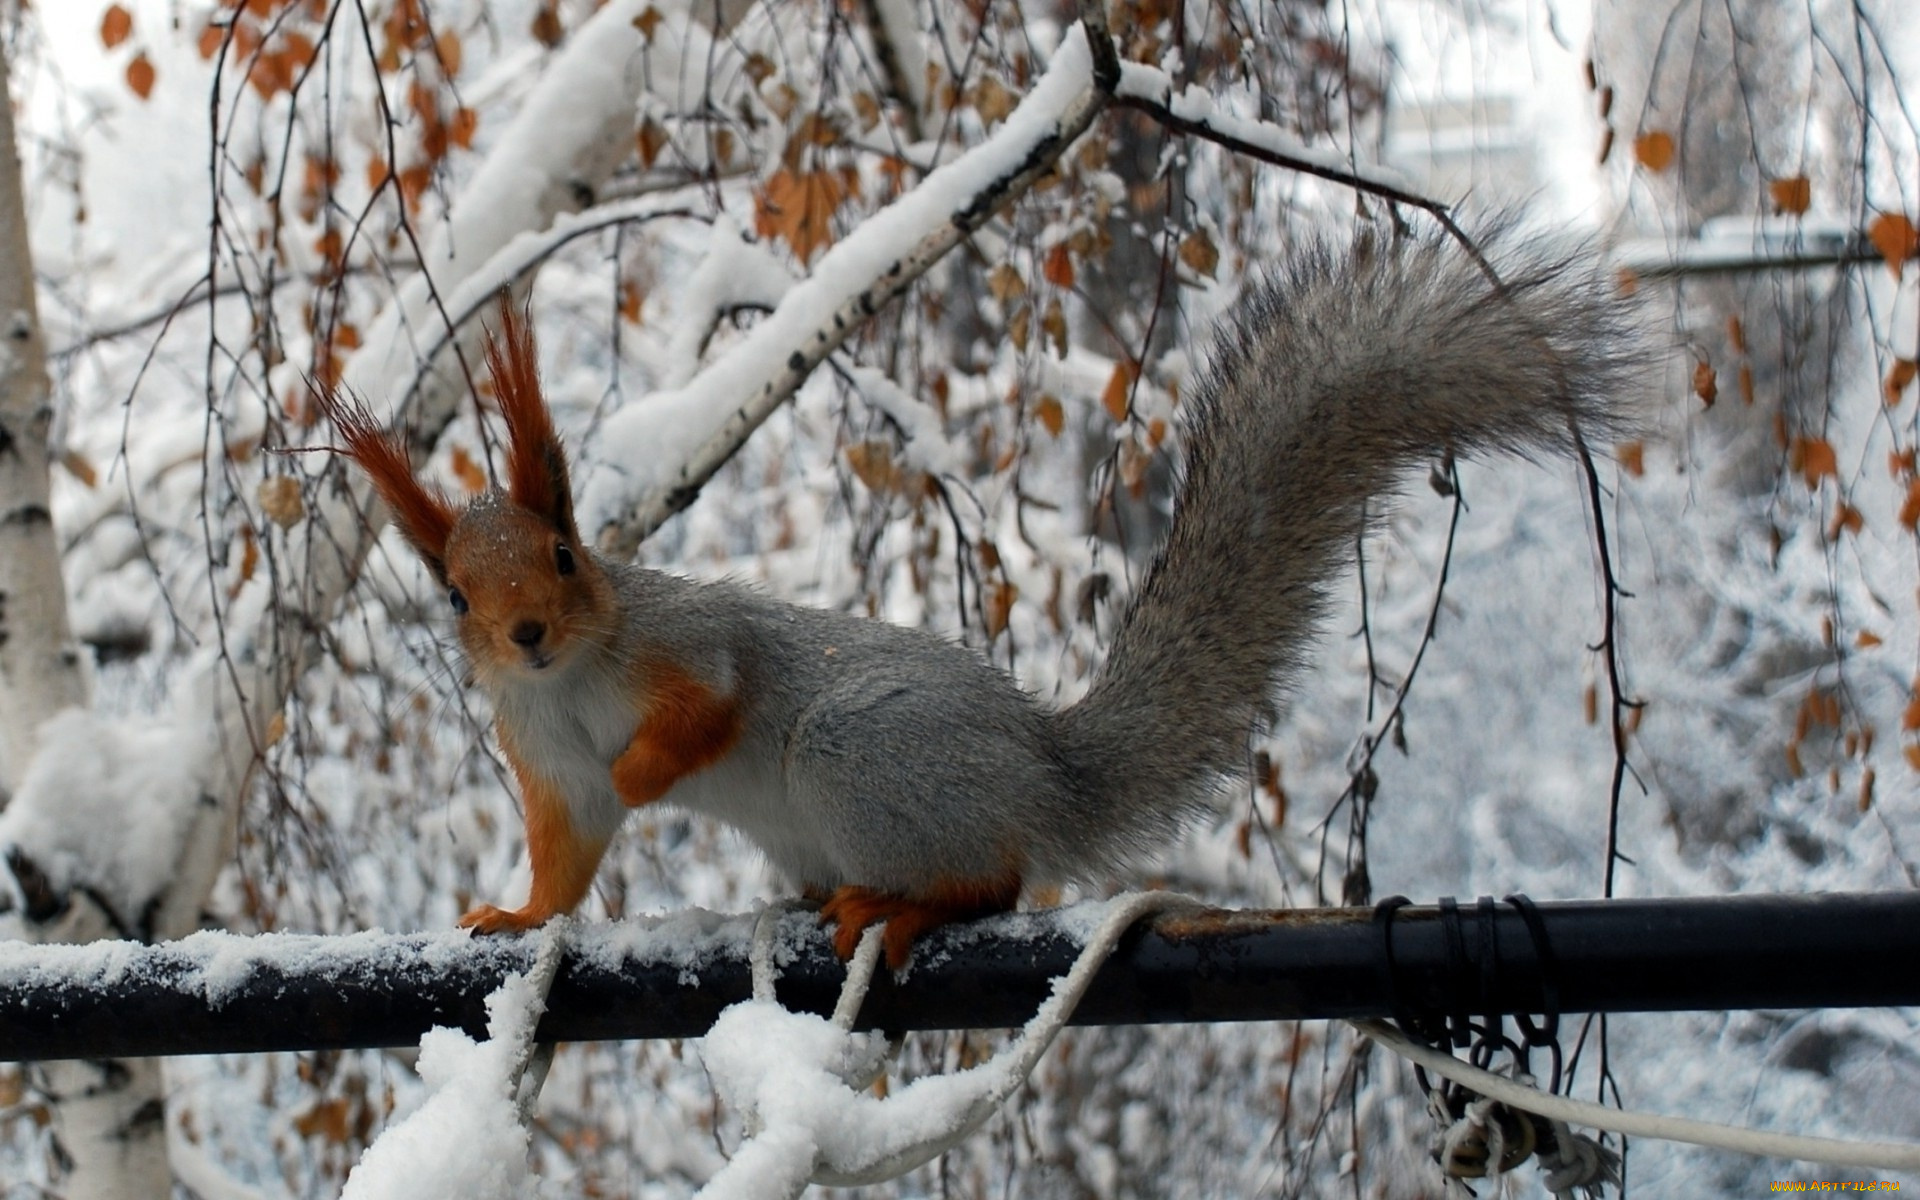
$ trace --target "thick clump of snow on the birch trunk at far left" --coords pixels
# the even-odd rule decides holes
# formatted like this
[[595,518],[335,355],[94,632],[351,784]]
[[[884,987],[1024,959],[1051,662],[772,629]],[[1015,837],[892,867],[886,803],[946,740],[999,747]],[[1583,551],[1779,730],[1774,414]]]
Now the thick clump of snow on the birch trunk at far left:
[[179,870],[207,791],[209,728],[182,712],[54,714],[0,814],[0,845],[17,847],[58,891],[90,887],[134,924]]

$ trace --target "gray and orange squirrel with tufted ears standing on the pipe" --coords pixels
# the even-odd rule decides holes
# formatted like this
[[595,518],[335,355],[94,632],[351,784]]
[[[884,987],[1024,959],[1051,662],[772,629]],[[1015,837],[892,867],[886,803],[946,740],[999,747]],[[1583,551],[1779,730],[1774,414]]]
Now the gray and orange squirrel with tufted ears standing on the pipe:
[[574,520],[532,334],[488,367],[507,486],[465,507],[363,401],[321,409],[445,588],[526,812],[540,925],[593,883],[628,810],[670,803],[764,851],[849,958],[893,968],[1027,883],[1150,852],[1225,778],[1300,670],[1377,501],[1440,455],[1569,451],[1624,428],[1630,323],[1597,271],[1526,246],[1363,234],[1296,250],[1215,336],[1185,401],[1165,541],[1083,699],[1048,707],[935,634],[603,559]]

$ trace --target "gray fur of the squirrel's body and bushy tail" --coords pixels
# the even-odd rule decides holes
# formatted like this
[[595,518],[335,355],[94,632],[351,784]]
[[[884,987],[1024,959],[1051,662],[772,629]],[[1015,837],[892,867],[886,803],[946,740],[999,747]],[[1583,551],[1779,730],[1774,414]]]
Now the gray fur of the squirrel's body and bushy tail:
[[[611,762],[637,712],[626,666],[668,655],[739,697],[745,728],[666,799],[820,891],[1060,881],[1148,852],[1242,768],[1369,501],[1444,451],[1617,432],[1634,340],[1611,290],[1524,250],[1494,265],[1503,294],[1438,238],[1321,244],[1242,305],[1187,405],[1169,540],[1071,708],[920,630],[601,561],[620,612],[611,645],[545,699],[495,697],[505,724],[538,726],[557,758],[586,747]],[[605,780],[568,799],[582,828],[622,816]]]

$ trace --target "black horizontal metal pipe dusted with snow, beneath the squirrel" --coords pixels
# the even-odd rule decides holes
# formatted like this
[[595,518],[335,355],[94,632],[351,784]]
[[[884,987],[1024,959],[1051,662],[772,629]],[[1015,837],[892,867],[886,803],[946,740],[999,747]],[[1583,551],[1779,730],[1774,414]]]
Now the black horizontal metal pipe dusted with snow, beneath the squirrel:
[[[1098,906],[922,939],[860,1029],[1012,1027],[1066,972]],[[1127,935],[1077,1025],[1920,1004],[1920,893],[1202,910]],[[753,916],[582,922],[541,1041],[699,1037],[753,995]],[[1390,939],[1390,952],[1386,941]],[[1542,956],[1540,941],[1548,947]],[[0,1060],[413,1044],[482,1035],[482,1000],[536,939],[447,933],[196,933],[177,943],[0,945]],[[1492,950],[1492,954],[1488,952]],[[833,1012],[845,975],[812,914],[780,920],[778,996]]]

